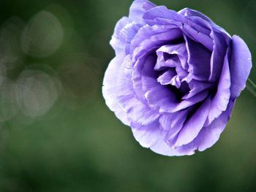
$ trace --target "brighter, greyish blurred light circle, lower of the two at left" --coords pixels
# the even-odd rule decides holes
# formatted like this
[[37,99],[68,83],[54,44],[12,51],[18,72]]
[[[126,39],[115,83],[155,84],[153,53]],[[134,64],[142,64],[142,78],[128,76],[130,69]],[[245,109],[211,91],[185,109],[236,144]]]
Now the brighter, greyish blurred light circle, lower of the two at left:
[[49,74],[24,71],[16,85],[16,99],[20,111],[29,117],[45,115],[59,98],[56,82]]

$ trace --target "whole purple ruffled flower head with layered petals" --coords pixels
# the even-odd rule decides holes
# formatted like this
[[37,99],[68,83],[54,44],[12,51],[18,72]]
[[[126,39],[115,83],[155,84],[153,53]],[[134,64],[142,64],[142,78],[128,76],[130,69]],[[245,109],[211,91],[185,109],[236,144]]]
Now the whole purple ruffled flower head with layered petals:
[[193,9],[137,0],[110,44],[103,96],[140,145],[192,155],[217,142],[252,68],[240,37]]

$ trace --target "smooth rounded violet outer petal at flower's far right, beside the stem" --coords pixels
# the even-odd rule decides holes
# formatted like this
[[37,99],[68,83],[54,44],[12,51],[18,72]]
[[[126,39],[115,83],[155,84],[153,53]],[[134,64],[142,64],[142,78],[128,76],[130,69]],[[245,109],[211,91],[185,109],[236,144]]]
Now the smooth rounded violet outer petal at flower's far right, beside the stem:
[[231,98],[236,99],[246,86],[246,80],[252,69],[252,55],[246,43],[240,37],[233,36],[233,52],[230,62]]

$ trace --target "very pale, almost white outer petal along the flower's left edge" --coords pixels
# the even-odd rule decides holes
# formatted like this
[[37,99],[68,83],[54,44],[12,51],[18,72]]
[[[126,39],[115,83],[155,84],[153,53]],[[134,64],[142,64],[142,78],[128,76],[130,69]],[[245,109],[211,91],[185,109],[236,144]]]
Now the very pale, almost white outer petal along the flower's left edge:
[[108,65],[108,69],[105,72],[102,93],[105,98],[106,104],[115,112],[118,119],[125,125],[129,126],[129,120],[127,119],[127,113],[117,103],[117,85],[116,78],[119,72],[120,66],[124,60],[124,55],[118,55]]

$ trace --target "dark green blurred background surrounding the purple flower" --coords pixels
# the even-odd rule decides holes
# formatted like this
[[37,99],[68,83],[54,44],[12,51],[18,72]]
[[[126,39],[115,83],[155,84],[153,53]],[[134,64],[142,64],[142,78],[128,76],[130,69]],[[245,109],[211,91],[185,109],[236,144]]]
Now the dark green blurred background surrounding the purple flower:
[[[131,3],[0,1],[0,191],[256,191],[249,91],[214,147],[178,158],[140,147],[106,107],[109,41]],[[200,10],[241,36],[255,58],[255,0],[154,3]]]

